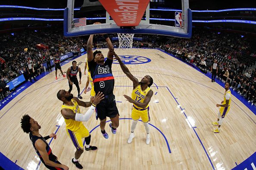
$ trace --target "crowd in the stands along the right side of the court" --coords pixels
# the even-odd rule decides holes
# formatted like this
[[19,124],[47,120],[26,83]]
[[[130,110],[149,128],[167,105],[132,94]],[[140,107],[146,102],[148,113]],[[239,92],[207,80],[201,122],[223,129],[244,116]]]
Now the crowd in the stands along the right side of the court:
[[231,88],[253,105],[256,103],[255,42],[234,33],[203,30],[193,32],[190,39],[173,38],[160,48],[199,67],[211,71],[218,64],[217,78],[230,82]]

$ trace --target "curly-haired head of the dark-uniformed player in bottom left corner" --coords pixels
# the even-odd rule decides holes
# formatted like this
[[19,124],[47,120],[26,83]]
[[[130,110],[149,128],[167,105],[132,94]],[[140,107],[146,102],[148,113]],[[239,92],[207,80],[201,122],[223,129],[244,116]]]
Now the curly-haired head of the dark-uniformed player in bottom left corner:
[[41,129],[41,126],[37,123],[37,121],[35,121],[29,115],[23,115],[20,123],[22,130],[27,134],[29,132],[38,131],[39,129]]

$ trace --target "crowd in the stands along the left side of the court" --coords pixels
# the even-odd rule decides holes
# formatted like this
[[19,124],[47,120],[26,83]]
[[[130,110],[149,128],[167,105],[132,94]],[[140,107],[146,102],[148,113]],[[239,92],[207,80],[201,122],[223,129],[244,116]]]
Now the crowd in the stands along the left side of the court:
[[[47,49],[38,49],[37,44],[48,46]],[[22,33],[0,35],[0,57],[5,63],[0,62],[0,98],[6,97],[9,88],[6,83],[24,74],[29,79],[28,63],[33,67],[33,76],[44,72],[43,63],[55,56],[73,52],[80,53],[83,40],[79,37],[66,38],[61,30],[24,31]]]

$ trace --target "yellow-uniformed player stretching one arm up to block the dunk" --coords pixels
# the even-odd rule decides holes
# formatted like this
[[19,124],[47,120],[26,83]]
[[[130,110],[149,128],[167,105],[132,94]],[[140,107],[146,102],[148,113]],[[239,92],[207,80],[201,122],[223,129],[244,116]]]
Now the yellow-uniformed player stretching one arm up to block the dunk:
[[131,97],[124,95],[124,97],[130,102],[133,103],[132,111],[131,111],[131,134],[128,138],[127,143],[131,143],[132,139],[134,138],[134,130],[137,125],[139,118],[144,123],[147,136],[146,136],[146,143],[150,144],[150,115],[149,115],[149,102],[151,97],[153,96],[153,91],[150,89],[150,86],[153,84],[153,79],[150,76],[144,76],[143,79],[139,82],[136,77],[134,77],[125,64],[121,61],[118,55],[113,52],[115,55],[115,59],[119,62],[123,72],[126,76],[133,82],[133,90],[131,93]]

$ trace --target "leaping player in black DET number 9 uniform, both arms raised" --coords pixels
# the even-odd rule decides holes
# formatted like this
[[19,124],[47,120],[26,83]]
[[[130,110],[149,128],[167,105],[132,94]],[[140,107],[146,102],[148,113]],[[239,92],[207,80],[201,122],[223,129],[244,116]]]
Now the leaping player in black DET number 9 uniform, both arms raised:
[[116,134],[116,128],[119,126],[119,112],[116,107],[116,99],[113,94],[115,80],[112,75],[113,54],[110,50],[114,50],[112,43],[107,34],[103,35],[109,48],[107,59],[104,62],[104,56],[100,51],[93,52],[92,43],[94,35],[90,35],[87,41],[87,58],[88,67],[94,83],[94,91],[96,94],[101,91],[105,99],[102,100],[96,108],[96,119],[100,118],[100,130],[103,137],[109,138],[105,131],[106,117],[111,122],[109,127],[113,134]]

